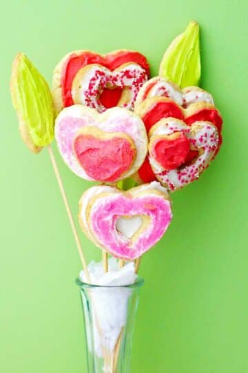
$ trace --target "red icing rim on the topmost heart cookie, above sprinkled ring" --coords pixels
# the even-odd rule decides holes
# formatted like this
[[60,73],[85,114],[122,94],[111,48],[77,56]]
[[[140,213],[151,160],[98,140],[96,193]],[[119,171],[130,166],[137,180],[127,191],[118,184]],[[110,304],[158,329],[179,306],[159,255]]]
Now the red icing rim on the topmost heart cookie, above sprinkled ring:
[[145,56],[138,52],[130,52],[121,50],[120,52],[112,52],[105,57],[97,55],[92,52],[82,52],[81,55],[72,55],[68,58],[65,66],[63,66],[61,75],[61,88],[62,88],[62,98],[64,106],[73,105],[72,100],[72,82],[76,73],[84,66],[89,64],[99,64],[105,66],[110,70],[115,70],[123,64],[128,62],[134,62],[145,69],[147,75],[149,75],[149,65]]

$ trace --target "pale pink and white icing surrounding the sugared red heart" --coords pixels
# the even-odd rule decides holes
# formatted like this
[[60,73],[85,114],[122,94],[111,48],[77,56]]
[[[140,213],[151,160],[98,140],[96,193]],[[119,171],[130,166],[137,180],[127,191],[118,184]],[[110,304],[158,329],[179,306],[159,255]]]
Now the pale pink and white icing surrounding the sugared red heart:
[[[85,111],[83,108],[85,108]],[[76,175],[86,180],[98,180],[87,174],[74,153],[74,138],[76,133],[84,126],[95,126],[105,133],[121,132],[130,135],[136,149],[136,157],[133,157],[134,164],[132,167],[138,168],[138,166],[141,166],[144,159],[144,149],[147,148],[147,137],[145,127],[139,117],[123,108],[110,108],[99,117],[94,115],[94,110],[85,106],[75,105],[65,108],[64,111],[70,111],[71,113],[68,112],[65,115],[62,111],[62,115],[59,114],[56,119],[55,137],[63,160]],[[125,176],[128,177],[131,174],[132,168],[127,167]]]

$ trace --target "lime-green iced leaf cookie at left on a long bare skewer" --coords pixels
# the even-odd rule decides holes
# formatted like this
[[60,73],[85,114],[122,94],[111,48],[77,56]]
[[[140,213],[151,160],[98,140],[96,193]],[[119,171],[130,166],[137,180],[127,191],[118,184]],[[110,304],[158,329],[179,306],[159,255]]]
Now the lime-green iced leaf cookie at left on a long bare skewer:
[[48,83],[23,53],[14,59],[10,82],[12,102],[34,146],[54,137],[54,108]]

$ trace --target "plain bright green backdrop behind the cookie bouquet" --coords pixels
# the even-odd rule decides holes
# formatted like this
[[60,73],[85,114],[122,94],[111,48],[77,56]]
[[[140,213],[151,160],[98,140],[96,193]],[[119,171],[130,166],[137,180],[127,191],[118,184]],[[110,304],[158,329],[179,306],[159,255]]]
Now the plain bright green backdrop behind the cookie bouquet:
[[[86,370],[74,285],[80,262],[48,152],[32,155],[17,131],[8,88],[15,53],[25,52],[50,82],[66,52],[132,48],[148,57],[154,76],[191,19],[201,26],[202,86],[223,113],[224,144],[198,182],[172,195],[174,220],[143,258],[132,372],[248,372],[247,17],[244,0],[12,0],[1,7],[1,372]],[[89,184],[56,158],[76,216]],[[99,258],[81,238],[87,259]]]

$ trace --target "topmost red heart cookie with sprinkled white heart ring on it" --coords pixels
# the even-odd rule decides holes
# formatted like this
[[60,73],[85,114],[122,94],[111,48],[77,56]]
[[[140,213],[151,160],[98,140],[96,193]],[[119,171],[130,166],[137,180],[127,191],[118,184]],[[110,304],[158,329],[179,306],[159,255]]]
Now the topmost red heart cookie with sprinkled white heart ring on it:
[[63,57],[54,70],[54,104],[57,111],[73,104],[85,104],[99,113],[114,106],[132,110],[148,76],[149,65],[141,53],[115,50],[99,55],[77,50]]

